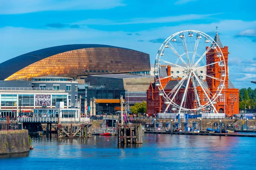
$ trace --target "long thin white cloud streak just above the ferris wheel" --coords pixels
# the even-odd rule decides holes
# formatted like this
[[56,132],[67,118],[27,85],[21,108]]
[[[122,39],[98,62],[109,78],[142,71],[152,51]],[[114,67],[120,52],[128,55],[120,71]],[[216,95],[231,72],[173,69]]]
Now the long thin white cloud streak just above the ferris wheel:
[[[222,14],[222,13],[218,13]],[[81,25],[128,25],[128,24],[148,24],[148,23],[172,23],[180,22],[187,20],[202,20],[206,19],[209,16],[218,15],[218,14],[188,14],[188,15],[179,15],[179,16],[170,16],[170,17],[157,17],[157,18],[133,18],[130,20],[105,20],[105,19],[88,19],[82,20],[72,24],[81,24]]]

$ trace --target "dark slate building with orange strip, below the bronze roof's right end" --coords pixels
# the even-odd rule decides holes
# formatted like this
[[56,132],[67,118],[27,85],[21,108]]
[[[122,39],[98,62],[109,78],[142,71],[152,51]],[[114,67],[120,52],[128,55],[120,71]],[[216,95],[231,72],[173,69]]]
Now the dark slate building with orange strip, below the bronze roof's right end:
[[[88,104],[90,99],[95,98],[99,113],[120,110],[120,95],[123,96],[127,109],[136,102],[146,101],[148,85],[154,82],[153,76],[135,73],[93,75],[84,79],[87,84],[79,85],[79,95],[81,92],[81,96],[84,96],[87,90]],[[84,101],[81,105],[84,105]]]

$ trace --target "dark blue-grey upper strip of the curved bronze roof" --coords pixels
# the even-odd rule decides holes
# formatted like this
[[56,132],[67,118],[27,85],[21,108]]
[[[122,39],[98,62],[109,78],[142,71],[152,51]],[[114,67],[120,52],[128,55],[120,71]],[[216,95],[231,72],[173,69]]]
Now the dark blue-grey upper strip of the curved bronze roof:
[[[55,54],[64,53],[66,51],[78,50],[82,48],[121,48],[111,45],[101,44],[71,44],[71,45],[60,45],[55,47],[44,48],[37,51],[32,51],[26,54],[22,54],[15,58],[9,59],[5,62],[0,63],[0,80],[6,79],[15,72],[31,65],[34,62],[38,62],[41,59],[53,56]],[[128,49],[128,48],[123,48]],[[129,49],[131,50],[131,49]],[[134,51],[134,50],[133,50]]]

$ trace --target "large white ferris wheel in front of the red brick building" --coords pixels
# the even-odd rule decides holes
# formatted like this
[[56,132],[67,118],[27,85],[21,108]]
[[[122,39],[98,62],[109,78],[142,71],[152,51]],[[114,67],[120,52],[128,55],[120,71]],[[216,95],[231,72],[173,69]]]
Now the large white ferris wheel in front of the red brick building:
[[[171,75],[166,74],[167,65]],[[195,30],[172,34],[157,52],[154,75],[159,96],[165,100],[164,113],[218,113],[216,102],[225,86],[226,63],[221,48],[209,35]]]

